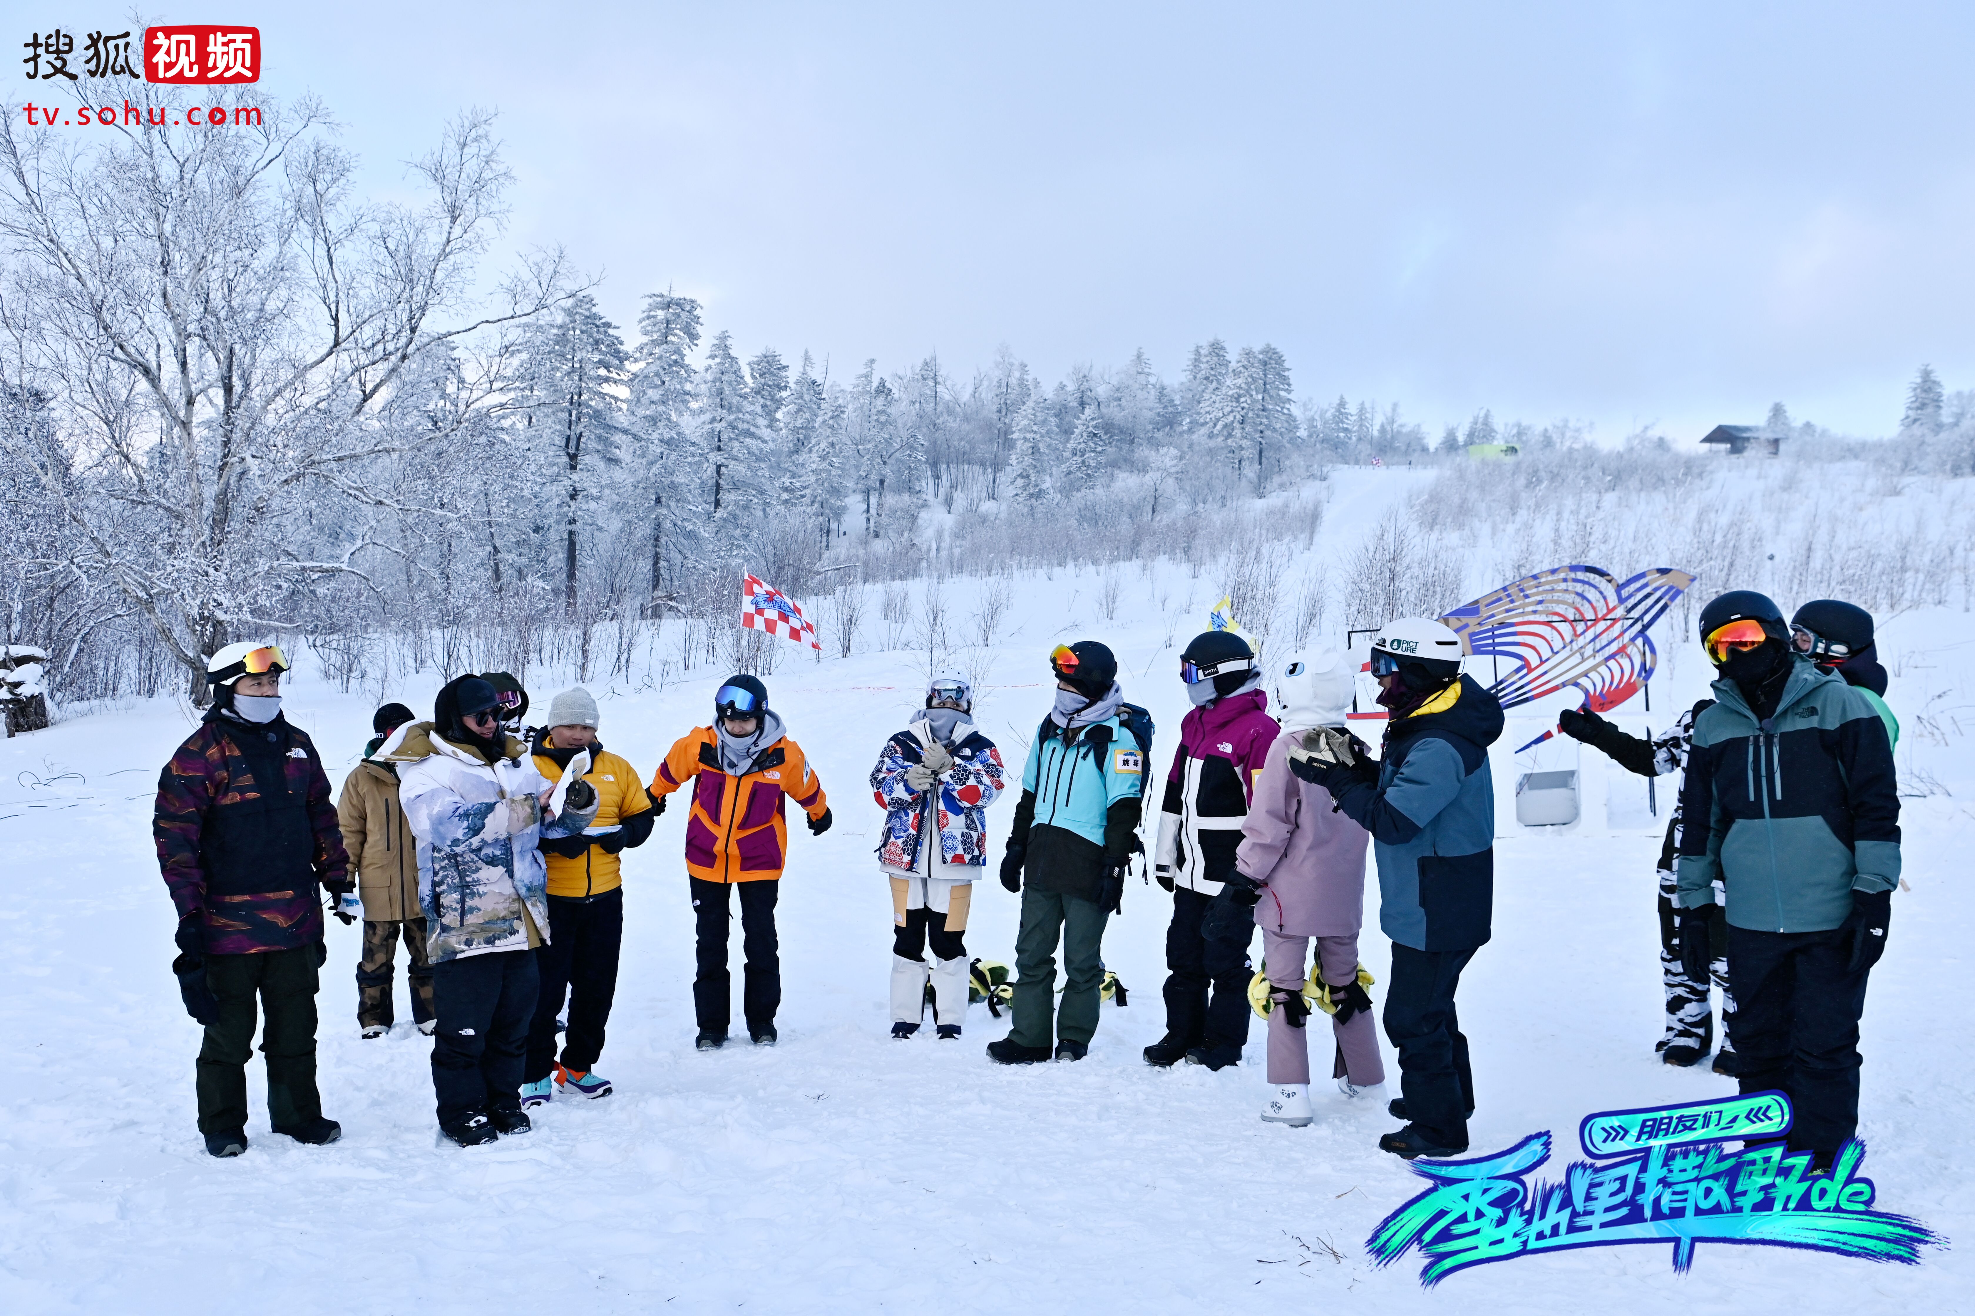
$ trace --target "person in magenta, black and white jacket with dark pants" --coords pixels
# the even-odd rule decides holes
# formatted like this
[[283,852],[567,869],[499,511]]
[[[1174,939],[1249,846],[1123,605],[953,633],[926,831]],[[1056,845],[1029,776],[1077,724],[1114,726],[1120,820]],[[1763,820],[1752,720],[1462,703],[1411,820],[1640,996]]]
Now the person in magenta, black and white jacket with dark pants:
[[1179,724],[1179,754],[1165,775],[1153,874],[1173,892],[1165,929],[1165,1036],[1146,1048],[1146,1063],[1223,1069],[1248,1042],[1248,943],[1252,917],[1223,919],[1203,933],[1207,910],[1234,872],[1256,773],[1276,742],[1254,649],[1232,631],[1195,635],[1179,657],[1193,710]]

